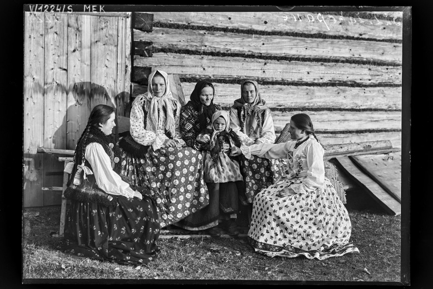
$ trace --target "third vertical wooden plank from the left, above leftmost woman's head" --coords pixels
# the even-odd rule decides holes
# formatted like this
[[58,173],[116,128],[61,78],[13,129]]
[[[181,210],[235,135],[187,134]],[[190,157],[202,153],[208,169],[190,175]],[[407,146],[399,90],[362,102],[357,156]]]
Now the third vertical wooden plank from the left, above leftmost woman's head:
[[68,15],[68,111],[66,149],[74,150],[90,115],[91,17]]

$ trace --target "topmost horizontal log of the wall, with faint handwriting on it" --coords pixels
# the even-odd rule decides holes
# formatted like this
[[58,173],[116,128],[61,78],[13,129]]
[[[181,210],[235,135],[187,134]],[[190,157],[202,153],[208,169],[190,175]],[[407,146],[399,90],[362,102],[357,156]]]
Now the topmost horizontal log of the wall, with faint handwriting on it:
[[[402,12],[400,12],[403,15]],[[137,13],[139,14],[139,13]],[[159,22],[181,28],[222,30],[249,34],[300,35],[302,37],[366,40],[401,40],[401,22],[327,15],[326,12],[152,12]],[[174,27],[174,26],[173,26]],[[218,29],[220,28],[220,29]]]

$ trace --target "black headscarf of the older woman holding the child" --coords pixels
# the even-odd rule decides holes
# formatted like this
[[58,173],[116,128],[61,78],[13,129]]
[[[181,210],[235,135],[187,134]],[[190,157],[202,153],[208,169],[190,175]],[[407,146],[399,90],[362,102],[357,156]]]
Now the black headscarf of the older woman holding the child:
[[213,87],[212,82],[208,80],[200,80],[196,83],[196,86],[191,93],[190,101],[187,103],[187,105],[191,105],[199,113],[198,120],[200,123],[200,129],[198,131],[207,127],[207,119],[210,120],[212,118],[212,113],[215,111],[213,98],[208,106],[204,105],[200,101],[200,94],[205,86],[210,86],[213,90],[213,96],[215,96],[215,88]]

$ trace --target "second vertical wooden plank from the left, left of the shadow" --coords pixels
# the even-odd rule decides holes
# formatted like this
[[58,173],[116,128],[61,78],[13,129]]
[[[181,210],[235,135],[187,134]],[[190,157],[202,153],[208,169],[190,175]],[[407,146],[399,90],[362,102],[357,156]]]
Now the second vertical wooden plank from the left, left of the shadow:
[[[45,13],[44,148],[66,149],[68,15]],[[44,187],[61,184],[47,172],[62,171],[63,164],[44,154]],[[61,193],[44,191],[44,206],[59,205]]]

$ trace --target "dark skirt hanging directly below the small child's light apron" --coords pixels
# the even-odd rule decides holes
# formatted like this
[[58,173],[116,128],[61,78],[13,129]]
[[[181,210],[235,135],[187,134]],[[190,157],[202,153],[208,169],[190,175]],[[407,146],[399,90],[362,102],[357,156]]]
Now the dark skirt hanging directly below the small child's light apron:
[[242,181],[227,183],[207,183],[209,205],[189,215],[176,226],[189,230],[202,230],[218,225],[223,215],[234,214],[239,209],[239,192],[244,191]]

